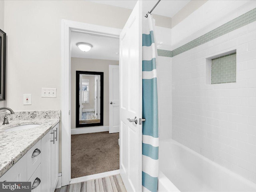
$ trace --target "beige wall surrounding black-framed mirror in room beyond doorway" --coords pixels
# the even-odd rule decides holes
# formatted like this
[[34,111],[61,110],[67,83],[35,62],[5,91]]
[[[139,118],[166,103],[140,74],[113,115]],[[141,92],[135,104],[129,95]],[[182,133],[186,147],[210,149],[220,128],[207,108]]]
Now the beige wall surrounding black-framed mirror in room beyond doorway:
[[71,128],[76,128],[76,71],[104,72],[103,125],[109,125],[109,65],[119,65],[119,61],[71,58]]

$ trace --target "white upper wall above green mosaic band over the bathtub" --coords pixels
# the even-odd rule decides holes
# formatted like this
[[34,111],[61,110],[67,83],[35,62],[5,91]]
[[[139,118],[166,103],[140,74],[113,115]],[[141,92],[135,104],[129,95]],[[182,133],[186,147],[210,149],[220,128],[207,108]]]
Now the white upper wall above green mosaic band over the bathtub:
[[172,28],[176,49],[256,7],[254,0],[208,0]]

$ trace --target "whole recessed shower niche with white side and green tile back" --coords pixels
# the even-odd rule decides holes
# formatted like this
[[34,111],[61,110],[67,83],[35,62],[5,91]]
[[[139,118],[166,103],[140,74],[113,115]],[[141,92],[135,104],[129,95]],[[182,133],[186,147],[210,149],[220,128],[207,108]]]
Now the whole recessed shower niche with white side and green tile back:
[[236,50],[206,58],[206,84],[236,82]]

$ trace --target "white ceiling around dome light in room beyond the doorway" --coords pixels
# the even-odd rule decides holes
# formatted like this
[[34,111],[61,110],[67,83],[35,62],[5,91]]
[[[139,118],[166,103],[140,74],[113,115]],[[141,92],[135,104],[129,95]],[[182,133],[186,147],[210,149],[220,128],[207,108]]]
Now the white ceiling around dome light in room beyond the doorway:
[[[88,52],[81,51],[76,46],[78,42],[92,44],[91,50]],[[71,57],[119,60],[119,39],[72,32]]]

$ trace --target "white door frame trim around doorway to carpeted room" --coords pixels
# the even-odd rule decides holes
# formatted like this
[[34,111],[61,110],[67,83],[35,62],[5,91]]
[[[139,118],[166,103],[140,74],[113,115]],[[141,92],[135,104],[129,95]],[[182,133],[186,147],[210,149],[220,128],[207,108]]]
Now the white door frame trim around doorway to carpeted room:
[[121,30],[81,22],[62,20],[62,186],[71,180],[71,32],[119,38]]

